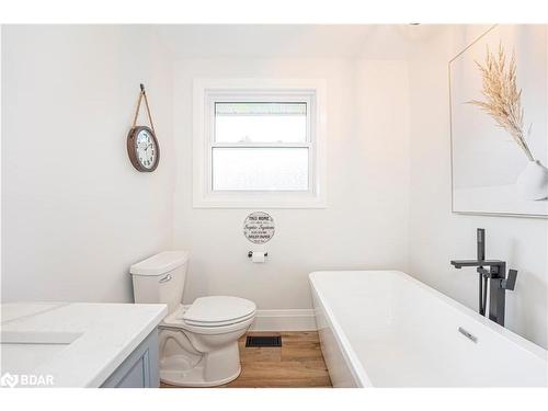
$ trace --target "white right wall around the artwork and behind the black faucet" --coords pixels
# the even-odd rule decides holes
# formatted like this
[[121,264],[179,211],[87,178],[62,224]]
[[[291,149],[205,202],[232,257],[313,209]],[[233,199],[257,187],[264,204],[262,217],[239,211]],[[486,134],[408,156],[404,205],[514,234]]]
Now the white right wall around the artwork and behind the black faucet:
[[547,347],[548,220],[455,215],[450,212],[448,60],[484,26],[455,27],[422,46],[410,60],[411,191],[409,270],[477,309],[478,277],[452,259],[476,256],[476,228],[487,230],[487,256],[518,270],[506,294],[506,327]]

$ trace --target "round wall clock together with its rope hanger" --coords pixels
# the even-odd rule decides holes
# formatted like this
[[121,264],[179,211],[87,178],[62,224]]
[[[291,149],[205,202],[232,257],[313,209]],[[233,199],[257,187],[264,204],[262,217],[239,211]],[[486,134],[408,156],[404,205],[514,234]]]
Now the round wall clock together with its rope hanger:
[[[142,100],[145,100],[145,107],[147,109],[150,127],[137,125],[137,117],[139,116],[139,109]],[[144,84],[140,84],[139,101],[137,102],[137,110],[135,111],[134,124],[127,134],[127,155],[129,156],[132,164],[140,172],[152,172],[160,162],[160,146],[156,138],[155,125],[152,123],[152,116],[150,115],[150,107],[148,105]]]

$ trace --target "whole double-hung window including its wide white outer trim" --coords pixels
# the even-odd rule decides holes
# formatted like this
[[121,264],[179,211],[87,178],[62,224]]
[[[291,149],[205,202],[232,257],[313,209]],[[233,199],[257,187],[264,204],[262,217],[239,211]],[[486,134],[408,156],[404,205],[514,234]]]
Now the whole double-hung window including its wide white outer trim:
[[194,83],[195,207],[323,207],[322,84]]

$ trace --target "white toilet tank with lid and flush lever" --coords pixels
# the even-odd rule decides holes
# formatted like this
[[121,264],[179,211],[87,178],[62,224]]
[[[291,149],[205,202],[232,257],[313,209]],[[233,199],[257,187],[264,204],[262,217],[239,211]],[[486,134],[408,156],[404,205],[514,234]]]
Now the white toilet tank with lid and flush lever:
[[164,251],[132,265],[135,302],[163,302],[173,312],[183,298],[187,264],[186,251]]

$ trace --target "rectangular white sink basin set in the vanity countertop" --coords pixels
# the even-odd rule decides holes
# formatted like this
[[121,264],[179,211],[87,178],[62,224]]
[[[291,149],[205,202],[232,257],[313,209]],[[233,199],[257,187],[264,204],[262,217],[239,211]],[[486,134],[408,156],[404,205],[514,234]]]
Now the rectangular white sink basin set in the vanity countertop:
[[2,331],[0,368],[28,374],[81,335],[72,332]]

